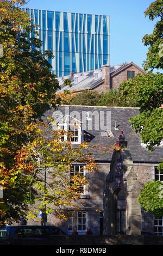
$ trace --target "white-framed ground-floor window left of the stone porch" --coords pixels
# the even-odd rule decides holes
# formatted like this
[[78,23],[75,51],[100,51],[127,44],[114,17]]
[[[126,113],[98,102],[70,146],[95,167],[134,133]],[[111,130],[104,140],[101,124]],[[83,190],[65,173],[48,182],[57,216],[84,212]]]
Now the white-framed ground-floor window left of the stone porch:
[[73,211],[68,218],[68,230],[72,231],[74,228],[78,232],[86,231],[87,227],[87,212],[86,211]]

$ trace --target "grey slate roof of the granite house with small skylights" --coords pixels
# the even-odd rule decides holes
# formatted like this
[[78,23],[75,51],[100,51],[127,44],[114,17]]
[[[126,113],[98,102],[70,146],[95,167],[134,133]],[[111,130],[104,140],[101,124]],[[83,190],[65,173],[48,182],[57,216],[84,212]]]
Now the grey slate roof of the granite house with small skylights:
[[[85,111],[97,111],[98,114],[103,112],[106,118],[106,112],[111,113],[111,132],[114,137],[103,137],[101,132],[104,131],[96,131],[95,130],[95,119],[92,117],[93,125],[91,130],[87,130],[91,135],[92,140],[89,142],[90,145],[102,145],[108,146],[113,145],[118,140],[118,136],[121,133],[121,130],[124,131],[124,135],[126,137],[126,141],[128,142],[128,148],[130,149],[131,156],[133,157],[134,162],[140,163],[159,163],[163,159],[163,148],[157,148],[152,153],[148,153],[146,148],[143,148],[141,145],[141,139],[138,133],[135,133],[133,129],[131,129],[131,125],[129,124],[129,118],[139,114],[139,108],[131,108],[131,107],[93,107],[93,106],[60,106],[59,111],[64,114],[64,109],[66,107],[66,113],[70,113],[72,115],[73,111],[77,111],[80,113],[82,117],[82,112]],[[68,111],[68,112],[67,112]],[[55,117],[56,110],[51,109],[45,113],[46,116]],[[80,120],[81,121],[81,120]],[[115,121],[117,122],[118,131],[114,129]],[[102,150],[97,148],[92,149],[93,157],[96,161],[99,162],[110,162],[112,157],[112,151],[110,153],[103,154]]]

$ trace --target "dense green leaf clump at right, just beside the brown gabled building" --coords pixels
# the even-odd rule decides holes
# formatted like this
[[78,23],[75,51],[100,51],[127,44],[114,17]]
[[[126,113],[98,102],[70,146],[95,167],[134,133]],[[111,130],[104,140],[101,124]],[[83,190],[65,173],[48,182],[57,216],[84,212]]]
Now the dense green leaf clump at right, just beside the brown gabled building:
[[120,99],[140,106],[140,112],[152,111],[162,104],[162,74],[139,74],[120,84]]

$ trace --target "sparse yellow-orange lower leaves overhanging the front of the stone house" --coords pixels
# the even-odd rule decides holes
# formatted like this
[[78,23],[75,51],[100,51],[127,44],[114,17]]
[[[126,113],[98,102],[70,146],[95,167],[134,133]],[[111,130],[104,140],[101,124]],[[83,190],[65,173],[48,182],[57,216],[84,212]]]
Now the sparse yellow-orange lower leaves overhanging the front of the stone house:
[[[53,139],[49,137],[49,131]],[[75,162],[85,162],[89,171],[96,169],[95,160],[85,150],[85,143],[74,148],[68,141],[61,141],[62,130],[52,131],[48,124],[44,129],[37,127],[37,136],[15,156],[17,173],[28,173],[28,190],[24,202],[35,206],[30,207],[28,217],[37,217],[39,209],[44,214],[55,212],[66,219],[67,207],[77,208],[76,201],[80,199],[79,185],[88,184],[87,179],[79,174],[73,176],[70,182],[70,168]],[[71,135],[70,135],[71,136]],[[85,153],[83,152],[85,150]]]

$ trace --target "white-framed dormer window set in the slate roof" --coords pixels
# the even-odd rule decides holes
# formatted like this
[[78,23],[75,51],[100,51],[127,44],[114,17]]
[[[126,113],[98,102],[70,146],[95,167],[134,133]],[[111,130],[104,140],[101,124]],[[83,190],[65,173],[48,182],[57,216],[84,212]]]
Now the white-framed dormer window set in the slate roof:
[[62,141],[70,141],[72,144],[80,144],[82,141],[82,128],[80,124],[59,124],[59,129],[64,130]]

